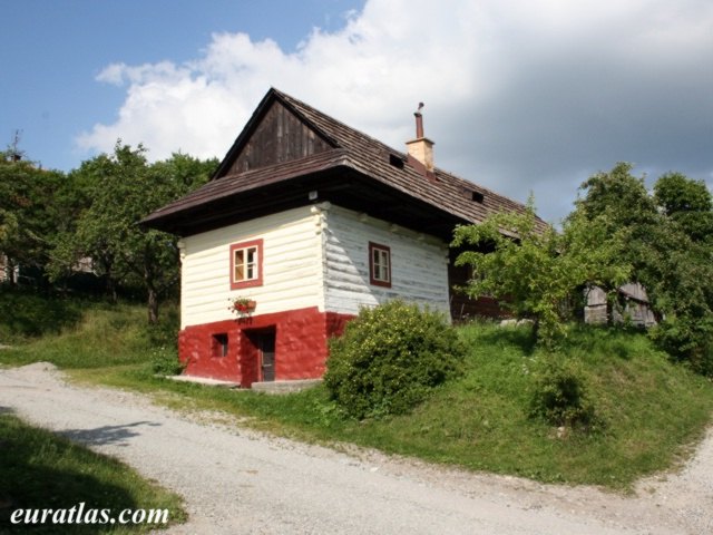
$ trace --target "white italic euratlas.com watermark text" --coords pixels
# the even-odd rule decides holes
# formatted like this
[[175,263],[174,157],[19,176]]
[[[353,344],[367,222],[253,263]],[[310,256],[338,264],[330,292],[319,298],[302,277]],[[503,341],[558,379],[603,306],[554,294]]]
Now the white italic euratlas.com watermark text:
[[167,524],[168,509],[123,509],[114,515],[111,509],[86,506],[85,502],[68,509],[16,509],[10,515],[12,524]]

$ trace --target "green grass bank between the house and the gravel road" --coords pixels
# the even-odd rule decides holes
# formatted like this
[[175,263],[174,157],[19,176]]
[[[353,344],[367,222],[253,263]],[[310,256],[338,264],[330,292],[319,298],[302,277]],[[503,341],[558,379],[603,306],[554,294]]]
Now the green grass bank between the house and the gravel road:
[[527,328],[459,328],[470,348],[459,380],[437,389],[410,415],[355,421],[342,416],[324,387],[271,397],[156,378],[143,321],[140,308],[92,310],[60,334],[0,351],[0,362],[50,360],[72,368],[76,380],[147,392],[175,408],[224,411],[244,425],[303,440],[352,442],[473,470],[613,489],[675,467],[713,415],[711,381],[672,363],[639,332],[570,330],[560,357],[578,362],[605,425],[594,434],[566,429],[558,437],[555,426],[529,416],[536,371],[550,357],[533,347]]

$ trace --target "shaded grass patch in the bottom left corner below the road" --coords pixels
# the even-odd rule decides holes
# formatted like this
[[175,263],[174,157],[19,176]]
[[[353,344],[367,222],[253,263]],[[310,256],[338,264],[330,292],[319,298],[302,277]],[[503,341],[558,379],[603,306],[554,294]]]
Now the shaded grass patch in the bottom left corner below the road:
[[0,414],[0,533],[128,534],[165,527],[147,523],[120,527],[82,523],[62,524],[59,529],[59,524],[49,521],[36,525],[10,522],[17,509],[75,507],[77,515],[81,503],[85,515],[89,509],[109,509],[115,517],[125,509],[167,509],[169,524],[186,519],[177,495],[143,479],[116,459],[28,426],[9,414]]

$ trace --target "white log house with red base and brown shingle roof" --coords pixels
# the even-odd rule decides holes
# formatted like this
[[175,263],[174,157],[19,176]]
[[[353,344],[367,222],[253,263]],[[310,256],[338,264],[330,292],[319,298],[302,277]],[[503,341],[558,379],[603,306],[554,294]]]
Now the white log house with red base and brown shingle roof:
[[522,205],[436,168],[418,113],[407,146],[265,95],[212,181],[143,222],[182,236],[185,373],[245,388],[319,378],[329,338],[394,298],[497,312],[453,292],[467,273],[448,244],[457,224]]

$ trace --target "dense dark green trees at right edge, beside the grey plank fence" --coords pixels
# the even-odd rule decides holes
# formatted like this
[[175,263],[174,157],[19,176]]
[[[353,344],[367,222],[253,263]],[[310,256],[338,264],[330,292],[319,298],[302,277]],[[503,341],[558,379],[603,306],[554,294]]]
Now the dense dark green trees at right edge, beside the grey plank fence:
[[670,354],[713,373],[713,203],[701,181],[667,173],[649,195],[617,164],[582,186],[576,212],[628,235],[625,259],[661,319],[652,338]]

